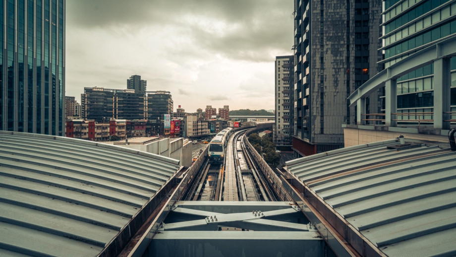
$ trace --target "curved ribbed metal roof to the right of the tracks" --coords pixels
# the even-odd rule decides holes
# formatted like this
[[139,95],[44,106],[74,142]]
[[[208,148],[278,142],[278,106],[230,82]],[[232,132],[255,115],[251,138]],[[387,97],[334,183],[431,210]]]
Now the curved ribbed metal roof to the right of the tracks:
[[407,143],[419,146],[388,149],[398,144],[390,140],[349,147],[286,169],[385,255],[454,256],[456,152]]

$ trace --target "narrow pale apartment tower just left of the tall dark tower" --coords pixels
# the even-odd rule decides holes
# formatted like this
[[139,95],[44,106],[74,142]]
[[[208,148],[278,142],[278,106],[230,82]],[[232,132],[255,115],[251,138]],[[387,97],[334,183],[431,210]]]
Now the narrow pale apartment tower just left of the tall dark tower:
[[[276,57],[276,123],[274,141],[277,146],[291,146],[293,134],[293,60],[294,56]],[[291,90],[290,90],[291,86]]]

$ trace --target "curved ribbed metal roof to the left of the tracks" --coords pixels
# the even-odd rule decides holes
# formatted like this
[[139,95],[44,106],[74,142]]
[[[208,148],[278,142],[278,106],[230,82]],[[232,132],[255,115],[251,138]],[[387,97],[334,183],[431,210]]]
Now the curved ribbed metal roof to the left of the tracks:
[[97,256],[181,167],[79,139],[0,131],[0,256]]

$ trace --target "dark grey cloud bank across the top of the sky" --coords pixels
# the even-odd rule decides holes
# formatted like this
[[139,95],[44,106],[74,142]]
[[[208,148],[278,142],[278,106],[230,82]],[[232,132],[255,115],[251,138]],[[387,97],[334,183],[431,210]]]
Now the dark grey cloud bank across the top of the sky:
[[[67,19],[74,26],[124,27],[131,33],[145,26],[171,26],[179,31],[170,29],[170,33],[183,33],[206,51],[254,62],[271,60],[267,53],[272,50],[291,48],[291,12],[289,0],[76,0],[67,3]],[[190,22],[189,16],[193,18]],[[199,22],[201,20],[225,25],[214,24],[209,29],[207,24]],[[182,35],[176,35],[179,36]],[[185,48],[174,51],[187,56],[199,54]]]

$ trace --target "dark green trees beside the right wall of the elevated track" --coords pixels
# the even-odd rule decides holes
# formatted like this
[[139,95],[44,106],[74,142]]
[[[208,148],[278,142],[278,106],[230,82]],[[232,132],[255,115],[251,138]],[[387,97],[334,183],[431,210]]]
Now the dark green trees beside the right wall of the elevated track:
[[280,153],[276,153],[276,145],[272,141],[272,136],[266,134],[260,137],[257,133],[251,133],[248,140],[260,155],[264,153],[264,160],[271,167],[276,167],[279,164]]

